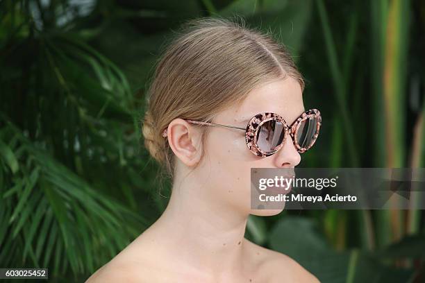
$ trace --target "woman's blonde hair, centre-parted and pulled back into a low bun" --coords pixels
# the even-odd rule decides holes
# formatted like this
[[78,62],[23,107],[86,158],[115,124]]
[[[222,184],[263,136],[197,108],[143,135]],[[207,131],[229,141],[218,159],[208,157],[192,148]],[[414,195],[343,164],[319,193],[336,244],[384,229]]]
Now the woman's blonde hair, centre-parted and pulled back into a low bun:
[[158,60],[142,120],[144,145],[169,178],[174,153],[162,133],[172,120],[210,121],[258,85],[286,76],[304,89],[285,46],[268,33],[247,28],[242,18],[192,19],[176,35]]

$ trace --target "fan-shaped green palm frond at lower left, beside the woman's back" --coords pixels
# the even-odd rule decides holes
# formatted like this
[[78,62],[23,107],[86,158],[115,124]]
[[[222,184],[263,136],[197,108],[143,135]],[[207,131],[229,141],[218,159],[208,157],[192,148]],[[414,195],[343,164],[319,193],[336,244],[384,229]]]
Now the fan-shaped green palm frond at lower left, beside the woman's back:
[[92,272],[144,228],[140,216],[99,194],[10,121],[2,122],[2,264]]

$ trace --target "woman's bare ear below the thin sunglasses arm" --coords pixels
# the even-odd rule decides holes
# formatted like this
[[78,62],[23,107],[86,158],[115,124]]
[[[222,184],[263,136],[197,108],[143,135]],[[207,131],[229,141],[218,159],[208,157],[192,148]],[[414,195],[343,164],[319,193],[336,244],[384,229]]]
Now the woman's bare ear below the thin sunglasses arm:
[[167,139],[172,151],[186,166],[194,166],[201,159],[201,131],[183,119],[174,119],[167,128]]

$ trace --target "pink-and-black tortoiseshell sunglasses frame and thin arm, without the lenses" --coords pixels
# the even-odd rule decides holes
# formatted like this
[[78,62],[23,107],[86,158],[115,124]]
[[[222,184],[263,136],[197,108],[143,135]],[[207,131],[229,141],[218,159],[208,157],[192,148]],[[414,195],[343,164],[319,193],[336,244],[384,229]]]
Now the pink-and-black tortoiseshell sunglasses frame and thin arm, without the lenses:
[[[315,118],[316,119],[316,132],[315,135],[312,137],[311,143],[307,147],[301,147],[298,144],[297,139],[297,133],[301,126],[301,122],[310,119]],[[285,128],[283,140],[281,144],[278,144],[274,148],[273,151],[263,151],[257,144],[257,137],[258,137],[258,130],[260,130],[260,127],[263,126],[264,123],[267,121],[279,121],[283,124]],[[273,155],[276,153],[279,149],[282,148],[283,144],[285,144],[286,137],[290,135],[292,137],[292,141],[294,143],[295,148],[297,148],[297,151],[299,153],[304,153],[310,149],[313,144],[315,144],[317,137],[319,136],[319,130],[320,126],[322,125],[322,116],[320,115],[319,110],[317,109],[310,109],[306,112],[303,112],[295,121],[292,123],[292,125],[288,126],[285,119],[283,119],[280,115],[272,112],[264,112],[260,114],[256,114],[256,116],[252,117],[251,120],[249,120],[248,125],[246,128],[241,127],[235,127],[235,126],[228,126],[228,125],[222,125],[218,123],[210,123],[210,122],[201,122],[201,121],[194,121],[194,120],[188,120],[185,119],[185,121],[188,121],[190,123],[202,125],[202,126],[217,126],[217,127],[224,127],[224,128],[233,128],[237,130],[244,130],[245,131],[245,141],[247,143],[247,146],[249,148],[249,151],[253,153],[254,155],[260,156],[260,157],[266,157],[269,155]],[[167,129],[163,131],[163,137],[167,137]]]

